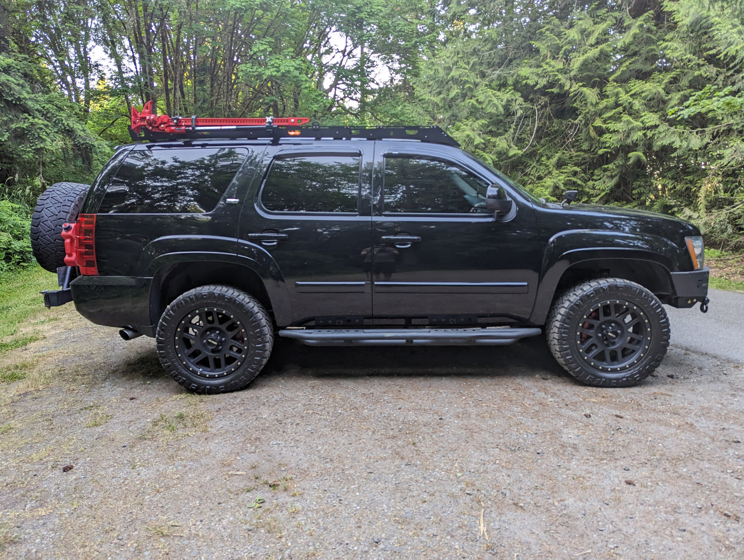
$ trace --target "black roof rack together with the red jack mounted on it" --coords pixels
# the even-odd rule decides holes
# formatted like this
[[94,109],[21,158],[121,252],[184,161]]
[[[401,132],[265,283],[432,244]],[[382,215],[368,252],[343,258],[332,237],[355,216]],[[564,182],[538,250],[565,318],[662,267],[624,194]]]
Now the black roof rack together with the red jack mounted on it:
[[264,118],[189,118],[155,115],[153,102],[148,101],[142,112],[132,107],[132,126],[129,134],[132,141],[173,141],[206,138],[246,138],[257,140],[271,138],[333,138],[344,140],[418,140],[458,147],[457,141],[439,126],[312,126],[301,128],[309,122],[307,117]]

